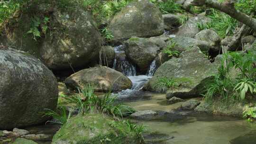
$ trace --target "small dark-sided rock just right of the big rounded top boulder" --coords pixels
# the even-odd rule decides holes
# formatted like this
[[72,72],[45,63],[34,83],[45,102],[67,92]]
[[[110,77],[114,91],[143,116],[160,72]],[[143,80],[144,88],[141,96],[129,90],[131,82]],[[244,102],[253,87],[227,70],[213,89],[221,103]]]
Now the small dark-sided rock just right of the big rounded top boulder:
[[170,30],[173,28],[180,27],[182,24],[180,23],[180,16],[174,14],[165,14],[163,15],[166,29]]

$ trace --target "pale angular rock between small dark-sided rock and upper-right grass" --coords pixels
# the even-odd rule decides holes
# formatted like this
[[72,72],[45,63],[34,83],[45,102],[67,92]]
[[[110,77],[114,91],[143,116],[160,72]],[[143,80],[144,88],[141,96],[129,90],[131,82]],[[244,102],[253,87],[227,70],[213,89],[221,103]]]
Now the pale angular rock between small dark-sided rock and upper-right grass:
[[188,36],[188,37],[194,37],[197,33],[200,32],[200,29],[198,28],[198,24],[206,24],[207,22],[210,22],[210,18],[207,18],[205,16],[196,16],[189,18],[187,23],[185,23],[177,32],[177,36]]

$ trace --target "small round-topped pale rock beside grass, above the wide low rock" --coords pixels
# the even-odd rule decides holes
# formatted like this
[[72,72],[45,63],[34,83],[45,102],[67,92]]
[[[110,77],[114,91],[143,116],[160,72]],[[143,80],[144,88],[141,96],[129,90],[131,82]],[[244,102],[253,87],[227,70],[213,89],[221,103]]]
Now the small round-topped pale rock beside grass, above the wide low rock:
[[195,39],[210,43],[210,49],[219,52],[221,38],[215,31],[211,29],[202,30],[195,35]]

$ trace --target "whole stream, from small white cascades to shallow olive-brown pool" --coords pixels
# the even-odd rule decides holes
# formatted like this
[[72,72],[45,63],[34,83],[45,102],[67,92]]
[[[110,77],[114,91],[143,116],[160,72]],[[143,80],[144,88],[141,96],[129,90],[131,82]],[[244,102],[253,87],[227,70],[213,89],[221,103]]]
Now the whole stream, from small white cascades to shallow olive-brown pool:
[[[122,46],[115,47],[117,54],[124,53],[121,48]],[[136,67],[126,59],[119,65],[115,60],[113,68],[119,68],[119,71],[128,76],[133,83],[131,89],[122,90],[115,95],[136,110],[170,111],[181,106],[181,103],[168,105],[165,94],[141,90],[155,72],[155,61],[150,65],[146,75],[136,75]],[[192,113],[183,117],[167,115],[154,120],[132,121],[146,126],[146,133],[149,134],[144,136],[146,144],[256,144],[256,126],[239,118]],[[43,125],[24,129],[32,134],[54,135],[59,127]],[[51,144],[50,139],[36,142]]]

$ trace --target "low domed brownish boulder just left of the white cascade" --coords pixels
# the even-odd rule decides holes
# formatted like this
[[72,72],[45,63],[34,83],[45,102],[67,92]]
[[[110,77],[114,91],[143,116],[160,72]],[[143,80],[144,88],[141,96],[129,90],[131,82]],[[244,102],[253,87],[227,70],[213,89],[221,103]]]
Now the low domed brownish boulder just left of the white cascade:
[[76,72],[66,78],[67,87],[76,89],[92,84],[95,91],[121,91],[130,89],[132,82],[121,72],[108,67],[94,67]]

